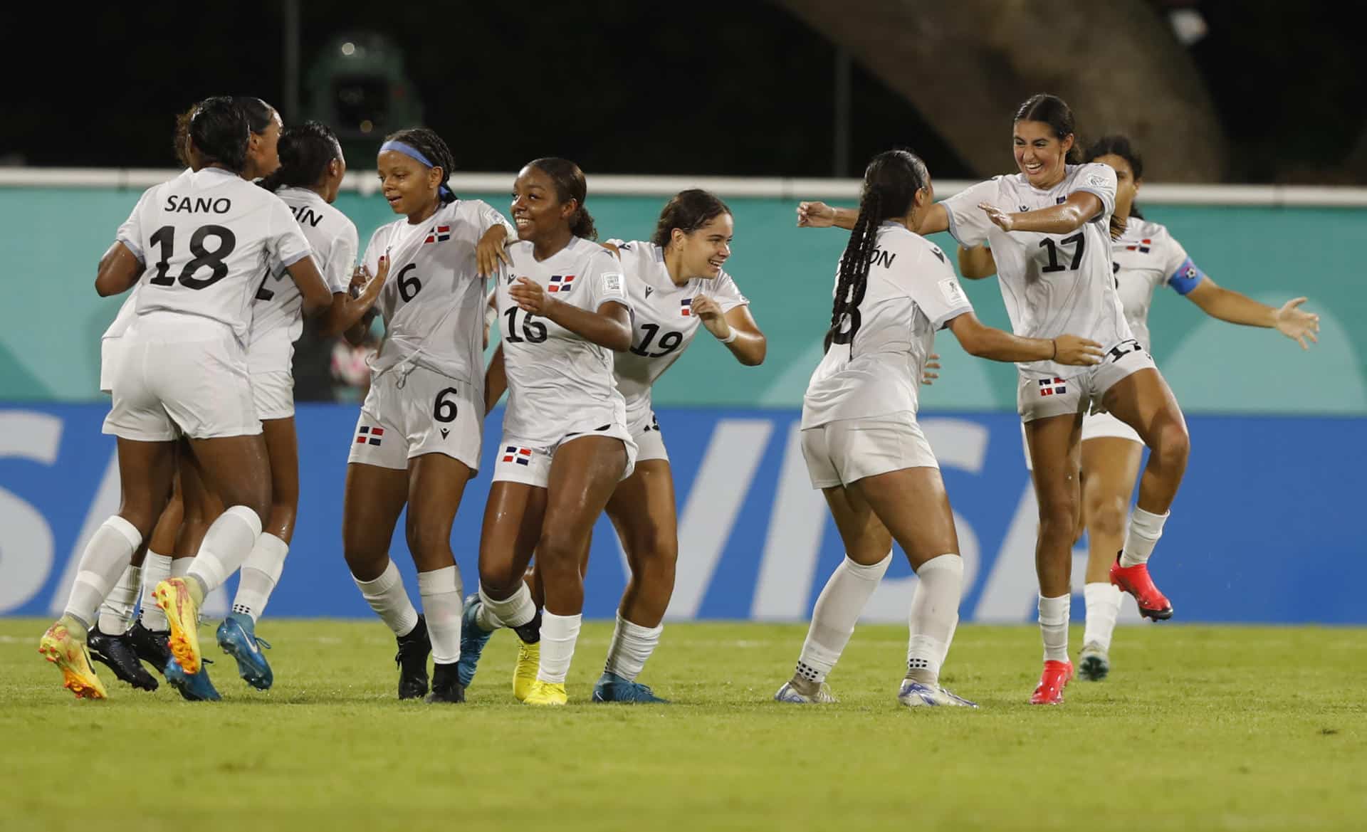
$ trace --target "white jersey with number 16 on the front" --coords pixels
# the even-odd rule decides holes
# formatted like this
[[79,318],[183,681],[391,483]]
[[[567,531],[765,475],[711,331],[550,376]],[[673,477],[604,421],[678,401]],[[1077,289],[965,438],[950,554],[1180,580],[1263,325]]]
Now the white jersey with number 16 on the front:
[[630,309],[622,264],[603,246],[581,238],[543,261],[533,257],[529,242],[514,243],[509,255],[513,262],[499,269],[495,291],[509,381],[503,434],[552,447],[570,433],[625,425],[612,350],[522,311],[509,294],[518,277],[529,277],[556,301],[580,309],[597,311],[608,301]]

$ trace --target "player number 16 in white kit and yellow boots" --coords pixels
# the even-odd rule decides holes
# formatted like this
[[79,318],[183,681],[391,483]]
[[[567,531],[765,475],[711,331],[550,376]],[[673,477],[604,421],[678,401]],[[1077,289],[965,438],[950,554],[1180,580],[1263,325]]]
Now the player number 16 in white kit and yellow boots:
[[[621,262],[591,242],[597,232],[586,195],[573,161],[537,158],[522,168],[513,198],[518,242],[495,290],[503,343],[489,362],[485,402],[492,408],[507,387],[509,407],[484,510],[478,604],[468,615],[483,638],[515,630],[519,665],[537,645],[536,678],[514,679],[514,694],[529,705],[569,698],[565,676],[584,608],[580,563],[637,449],[612,374],[612,352],[632,347],[632,307]],[[533,551],[544,612],[522,581]]]

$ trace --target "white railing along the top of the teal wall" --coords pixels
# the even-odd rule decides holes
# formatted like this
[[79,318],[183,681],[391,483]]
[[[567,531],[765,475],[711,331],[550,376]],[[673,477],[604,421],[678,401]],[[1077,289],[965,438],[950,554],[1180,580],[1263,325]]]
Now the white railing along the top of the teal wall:
[[[100,187],[142,190],[175,176],[175,169],[154,168],[0,168],[0,187]],[[459,174],[451,178],[457,193],[499,193],[513,184],[513,174]],[[701,187],[719,197],[768,197],[778,199],[857,199],[857,179],[798,179],[789,176],[589,176],[589,193],[619,197],[668,197]],[[939,197],[956,194],[972,182],[935,183]],[[373,194],[373,171],[347,172],[343,190]],[[1367,187],[1300,184],[1146,184],[1141,201],[1162,205],[1263,205],[1301,208],[1367,208]]]

